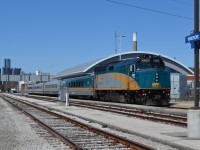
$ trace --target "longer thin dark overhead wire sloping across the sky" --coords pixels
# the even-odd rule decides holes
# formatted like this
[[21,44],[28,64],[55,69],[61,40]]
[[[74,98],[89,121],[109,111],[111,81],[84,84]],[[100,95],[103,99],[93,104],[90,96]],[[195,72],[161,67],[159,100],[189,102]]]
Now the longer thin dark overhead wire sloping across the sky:
[[145,10],[145,11],[151,11],[151,12],[154,12],[154,13],[159,13],[159,14],[164,14],[164,15],[168,15],[168,16],[178,17],[178,18],[182,18],[182,19],[194,20],[193,18],[189,18],[189,17],[185,17],[185,16],[180,16],[180,15],[176,15],[176,14],[171,14],[171,13],[168,13],[168,12],[158,11],[158,10],[154,10],[154,9],[150,9],[150,8],[145,8],[145,7],[141,7],[141,6],[136,6],[136,5],[132,5],[132,4],[117,2],[117,1],[114,1],[114,0],[105,0],[105,1],[110,2],[110,3],[119,4],[119,5],[123,5],[123,6],[128,6],[128,7],[133,7],[133,8],[137,8],[137,9],[142,9],[142,10]]

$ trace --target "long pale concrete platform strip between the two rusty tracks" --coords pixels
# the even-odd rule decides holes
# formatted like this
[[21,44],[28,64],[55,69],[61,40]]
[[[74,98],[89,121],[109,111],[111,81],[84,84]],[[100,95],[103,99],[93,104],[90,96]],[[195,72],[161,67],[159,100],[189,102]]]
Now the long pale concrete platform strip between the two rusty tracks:
[[[82,118],[88,118],[91,121],[103,123],[108,125],[108,127],[114,127],[115,129],[120,129],[124,132],[128,131],[129,133],[157,140],[167,145],[173,145],[179,149],[200,150],[200,139],[188,138],[187,128],[176,127],[137,118],[130,118],[114,113],[92,110],[88,108],[79,108],[74,106],[66,107],[65,103],[46,102],[26,97],[23,97],[23,99],[54,110],[74,114]],[[180,111],[184,114],[187,113],[186,110]]]

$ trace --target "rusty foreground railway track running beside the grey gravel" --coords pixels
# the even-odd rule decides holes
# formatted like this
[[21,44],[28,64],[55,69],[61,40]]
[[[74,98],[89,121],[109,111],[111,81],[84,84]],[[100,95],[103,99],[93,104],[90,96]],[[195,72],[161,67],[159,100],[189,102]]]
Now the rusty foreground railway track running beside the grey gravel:
[[33,118],[72,149],[153,149],[23,102],[18,98],[5,95],[1,95],[1,97]]

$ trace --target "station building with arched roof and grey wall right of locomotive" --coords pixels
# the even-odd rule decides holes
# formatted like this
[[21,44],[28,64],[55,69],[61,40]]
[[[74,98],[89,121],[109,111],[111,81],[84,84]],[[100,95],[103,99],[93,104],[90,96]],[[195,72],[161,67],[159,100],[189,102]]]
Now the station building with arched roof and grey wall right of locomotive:
[[69,77],[77,77],[87,74],[93,74],[94,68],[97,67],[98,65],[108,64],[111,62],[118,61],[120,59],[121,60],[131,59],[134,57],[139,57],[144,54],[152,54],[160,56],[163,59],[166,68],[171,71],[171,98],[184,98],[193,96],[192,95],[193,92],[191,92],[193,87],[191,86],[191,83],[189,85],[187,84],[187,76],[191,76],[194,74],[194,72],[190,68],[181,64],[177,60],[171,59],[167,56],[145,51],[131,51],[121,54],[115,54],[105,58],[87,62],[81,65],[77,65],[61,71],[53,79],[63,80]]

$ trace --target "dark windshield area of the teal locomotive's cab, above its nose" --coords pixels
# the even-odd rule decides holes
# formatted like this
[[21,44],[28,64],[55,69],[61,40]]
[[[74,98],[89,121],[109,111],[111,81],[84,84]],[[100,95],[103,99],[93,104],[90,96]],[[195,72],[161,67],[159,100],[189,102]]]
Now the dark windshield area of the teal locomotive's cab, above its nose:
[[165,68],[165,64],[159,56],[143,55],[136,62],[137,70]]

